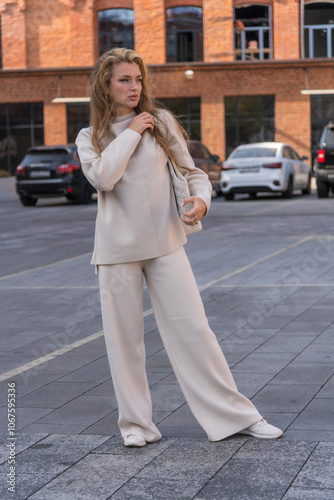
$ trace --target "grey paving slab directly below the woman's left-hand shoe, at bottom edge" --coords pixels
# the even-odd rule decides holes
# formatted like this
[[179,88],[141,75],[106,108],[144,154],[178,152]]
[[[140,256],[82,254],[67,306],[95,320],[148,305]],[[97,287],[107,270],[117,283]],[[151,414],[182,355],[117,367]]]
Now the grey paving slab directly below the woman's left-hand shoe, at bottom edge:
[[131,449],[125,448],[120,440],[111,440],[109,453],[85,456],[31,498],[107,499],[173,442],[173,439],[163,440],[141,449]]

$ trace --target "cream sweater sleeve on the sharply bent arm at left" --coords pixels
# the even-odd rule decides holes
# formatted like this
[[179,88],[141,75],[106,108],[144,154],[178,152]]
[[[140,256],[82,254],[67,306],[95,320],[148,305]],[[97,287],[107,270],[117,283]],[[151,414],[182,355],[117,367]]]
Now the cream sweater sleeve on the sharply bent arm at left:
[[111,191],[122,178],[140,139],[140,134],[127,128],[98,155],[92,144],[90,129],[80,130],[75,143],[83,173],[92,186],[98,191]]

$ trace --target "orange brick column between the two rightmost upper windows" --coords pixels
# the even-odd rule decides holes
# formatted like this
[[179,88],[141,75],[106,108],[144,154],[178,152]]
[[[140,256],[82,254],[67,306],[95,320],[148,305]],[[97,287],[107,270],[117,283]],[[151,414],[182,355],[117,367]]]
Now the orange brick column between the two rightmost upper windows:
[[299,0],[273,5],[274,59],[299,59],[300,57],[300,7]]

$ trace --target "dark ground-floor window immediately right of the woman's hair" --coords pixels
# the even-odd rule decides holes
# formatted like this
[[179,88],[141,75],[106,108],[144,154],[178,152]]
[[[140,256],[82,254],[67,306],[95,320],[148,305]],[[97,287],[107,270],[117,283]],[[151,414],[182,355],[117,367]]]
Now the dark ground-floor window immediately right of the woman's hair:
[[159,99],[159,101],[179,118],[190,139],[201,140],[201,100],[199,97]]

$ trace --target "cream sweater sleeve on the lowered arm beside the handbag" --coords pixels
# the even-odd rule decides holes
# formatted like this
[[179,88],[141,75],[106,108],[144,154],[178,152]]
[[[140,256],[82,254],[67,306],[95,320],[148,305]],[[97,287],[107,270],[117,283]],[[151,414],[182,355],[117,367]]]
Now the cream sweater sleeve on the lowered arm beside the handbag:
[[166,129],[166,137],[177,167],[187,179],[191,196],[198,196],[207,207],[211,205],[212,185],[207,174],[197,168],[188,151],[187,143],[182,136],[175,118],[168,112],[161,113],[161,120]]

